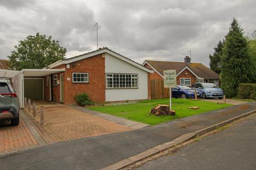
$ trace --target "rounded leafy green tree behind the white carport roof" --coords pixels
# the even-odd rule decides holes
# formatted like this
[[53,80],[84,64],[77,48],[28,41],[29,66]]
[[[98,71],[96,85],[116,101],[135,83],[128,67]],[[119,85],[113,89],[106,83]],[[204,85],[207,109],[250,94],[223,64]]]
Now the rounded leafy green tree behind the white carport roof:
[[63,60],[67,52],[66,48],[59,45],[59,41],[39,33],[27,36],[14,48],[11,55],[7,56],[12,70],[42,69],[46,64]]

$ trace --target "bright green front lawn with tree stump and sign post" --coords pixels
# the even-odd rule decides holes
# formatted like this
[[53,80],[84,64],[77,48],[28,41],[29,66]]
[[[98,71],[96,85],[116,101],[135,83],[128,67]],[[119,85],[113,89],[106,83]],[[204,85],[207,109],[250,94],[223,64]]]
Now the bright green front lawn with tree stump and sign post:
[[[124,117],[132,121],[156,125],[176,118],[193,116],[196,114],[214,111],[217,109],[231,106],[230,104],[217,104],[209,101],[175,99],[172,98],[172,109],[176,112],[175,116],[156,116],[150,113],[150,109],[158,104],[169,105],[169,99],[143,100],[135,104],[115,105],[115,106],[92,106],[87,107],[93,111],[107,113],[110,115]],[[193,110],[188,107],[198,106],[199,109]],[[149,114],[149,115],[148,115]]]

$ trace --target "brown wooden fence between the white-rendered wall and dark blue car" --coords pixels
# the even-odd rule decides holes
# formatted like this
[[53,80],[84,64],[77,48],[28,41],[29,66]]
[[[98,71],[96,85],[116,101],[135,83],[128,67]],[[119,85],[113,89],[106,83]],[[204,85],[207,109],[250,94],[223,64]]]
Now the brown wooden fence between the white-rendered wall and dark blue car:
[[169,88],[164,88],[164,80],[151,80],[151,99],[170,97]]

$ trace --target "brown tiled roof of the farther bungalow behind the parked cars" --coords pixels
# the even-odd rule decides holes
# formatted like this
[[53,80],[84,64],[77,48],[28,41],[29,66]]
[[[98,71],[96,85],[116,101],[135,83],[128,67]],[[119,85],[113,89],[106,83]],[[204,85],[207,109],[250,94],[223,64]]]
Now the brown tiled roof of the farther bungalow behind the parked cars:
[[186,66],[193,71],[199,78],[204,79],[219,79],[219,75],[203,65],[202,63],[184,63],[184,62],[169,62],[169,61],[152,61],[145,60],[143,65],[148,63],[159,74],[163,76],[164,70],[176,70],[177,74],[181,72]]

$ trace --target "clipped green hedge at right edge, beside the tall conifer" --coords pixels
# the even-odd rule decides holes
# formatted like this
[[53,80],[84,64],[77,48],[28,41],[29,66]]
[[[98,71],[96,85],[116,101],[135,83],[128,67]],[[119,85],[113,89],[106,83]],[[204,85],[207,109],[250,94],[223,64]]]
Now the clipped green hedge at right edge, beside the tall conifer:
[[237,97],[256,100],[256,83],[240,83]]

